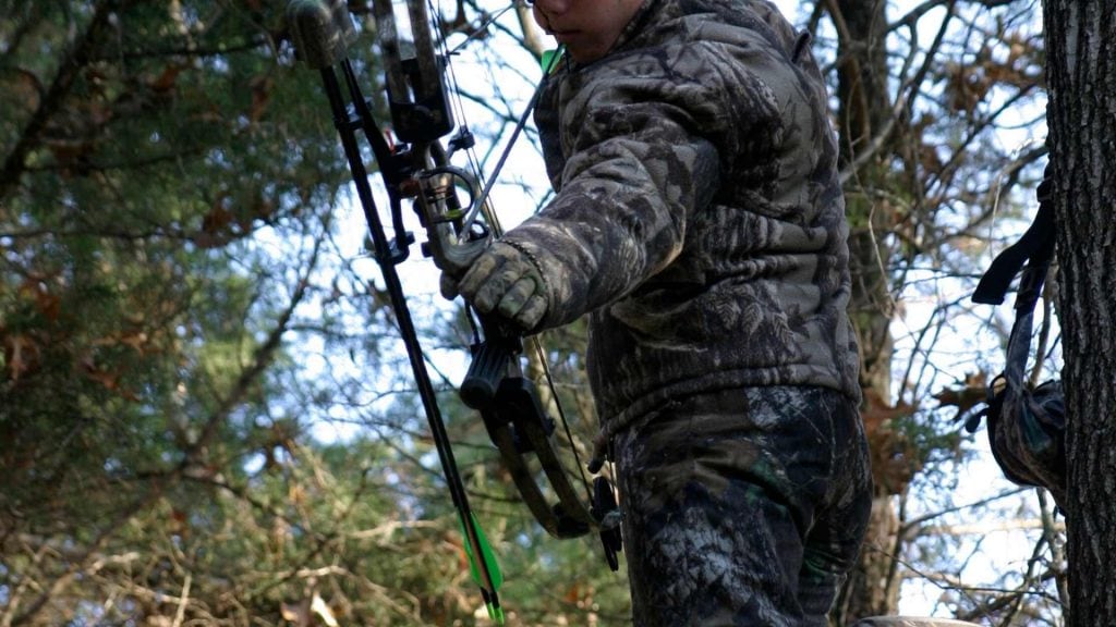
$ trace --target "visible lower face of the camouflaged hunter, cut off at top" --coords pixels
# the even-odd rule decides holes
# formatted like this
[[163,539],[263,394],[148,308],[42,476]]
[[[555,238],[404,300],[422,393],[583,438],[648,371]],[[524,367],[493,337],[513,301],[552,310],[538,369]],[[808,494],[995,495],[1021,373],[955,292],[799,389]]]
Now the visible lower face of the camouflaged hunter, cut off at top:
[[613,47],[643,0],[535,0],[535,21],[578,62],[599,59]]

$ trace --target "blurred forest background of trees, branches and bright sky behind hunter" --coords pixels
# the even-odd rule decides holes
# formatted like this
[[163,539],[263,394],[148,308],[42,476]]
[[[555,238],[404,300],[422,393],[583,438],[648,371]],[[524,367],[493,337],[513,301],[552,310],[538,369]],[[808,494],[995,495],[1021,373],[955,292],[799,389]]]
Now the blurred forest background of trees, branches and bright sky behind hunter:
[[[0,627],[488,624],[285,4],[0,0]],[[348,6],[382,107],[371,7]],[[440,6],[491,168],[548,44],[522,7],[479,29],[502,2]],[[1041,6],[782,6],[833,95],[877,485],[834,624],[1060,625],[1061,518],[958,422],[1011,321],[969,296],[1046,162]],[[530,129],[511,161],[513,223],[548,197]],[[458,303],[417,253],[402,270],[509,624],[626,624],[623,572],[546,536],[455,401]],[[1052,302],[1036,380],[1061,361]],[[580,337],[545,341],[584,452]]]

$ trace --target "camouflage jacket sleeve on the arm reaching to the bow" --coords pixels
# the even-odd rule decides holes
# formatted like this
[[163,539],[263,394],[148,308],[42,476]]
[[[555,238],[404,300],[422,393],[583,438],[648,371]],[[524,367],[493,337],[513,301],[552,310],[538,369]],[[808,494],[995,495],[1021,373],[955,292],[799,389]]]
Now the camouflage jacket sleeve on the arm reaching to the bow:
[[738,158],[778,143],[775,98],[715,42],[607,58],[559,95],[568,155],[557,194],[506,239],[529,249],[555,327],[614,302],[683,249],[687,221],[714,201]]

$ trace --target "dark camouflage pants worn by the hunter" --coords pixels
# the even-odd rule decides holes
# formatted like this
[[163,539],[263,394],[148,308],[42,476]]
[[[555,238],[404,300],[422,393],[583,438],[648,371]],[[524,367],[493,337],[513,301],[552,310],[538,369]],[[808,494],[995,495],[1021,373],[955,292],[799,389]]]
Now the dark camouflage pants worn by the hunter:
[[870,508],[854,402],[808,387],[694,396],[613,446],[636,627],[825,627]]

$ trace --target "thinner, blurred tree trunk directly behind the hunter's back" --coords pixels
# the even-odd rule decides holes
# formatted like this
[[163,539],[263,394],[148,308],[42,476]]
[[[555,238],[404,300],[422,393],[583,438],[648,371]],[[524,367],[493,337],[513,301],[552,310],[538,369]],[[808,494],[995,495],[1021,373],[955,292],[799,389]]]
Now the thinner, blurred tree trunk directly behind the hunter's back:
[[[887,19],[884,2],[863,0],[827,1],[838,32],[837,112],[843,167],[869,149],[874,136],[887,126],[891,100],[887,91],[885,36]],[[886,267],[892,252],[882,233],[893,224],[893,211],[876,193],[888,187],[888,151],[879,151],[846,189],[847,214],[852,228],[849,255],[853,271],[853,299],[849,312],[860,345],[860,385],[868,403],[886,404],[891,397],[893,339],[891,290]],[[867,408],[867,407],[866,407]],[[869,443],[878,448],[885,443],[881,424],[866,421]],[[878,467],[874,466],[874,475]],[[850,573],[837,608],[830,616],[835,625],[848,625],[865,616],[894,614],[898,586],[894,579],[895,533],[898,514],[894,490],[874,476],[876,491],[872,519],[860,551],[859,562]],[[905,486],[904,486],[905,489]]]

